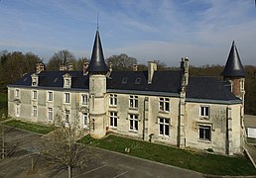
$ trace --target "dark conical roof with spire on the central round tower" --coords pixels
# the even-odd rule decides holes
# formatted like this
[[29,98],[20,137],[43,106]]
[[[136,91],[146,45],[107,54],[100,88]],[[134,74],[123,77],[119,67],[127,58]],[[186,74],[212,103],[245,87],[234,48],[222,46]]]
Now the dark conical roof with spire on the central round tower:
[[90,73],[107,72],[108,67],[104,60],[103,50],[100,42],[99,32],[96,32],[92,54],[87,71]]

